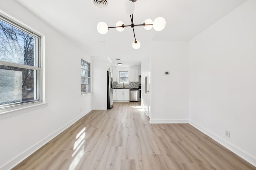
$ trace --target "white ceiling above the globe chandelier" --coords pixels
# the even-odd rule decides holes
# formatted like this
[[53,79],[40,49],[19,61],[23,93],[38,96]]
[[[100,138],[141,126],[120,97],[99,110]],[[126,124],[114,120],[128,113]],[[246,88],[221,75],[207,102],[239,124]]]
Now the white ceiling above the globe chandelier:
[[[163,31],[134,27],[140,49],[133,49],[134,35],[131,27],[123,32],[115,28],[101,35],[96,29],[100,21],[109,27],[117,21],[130,25],[130,16],[123,10],[127,0],[107,0],[104,9],[94,5],[93,0],[17,0],[46,23],[84,48],[92,57],[110,58],[112,64],[140,65],[151,41],[189,41],[204,29],[220,20],[246,0],[137,0],[134,24],[162,16],[166,20]],[[120,61],[116,61],[120,58]]]

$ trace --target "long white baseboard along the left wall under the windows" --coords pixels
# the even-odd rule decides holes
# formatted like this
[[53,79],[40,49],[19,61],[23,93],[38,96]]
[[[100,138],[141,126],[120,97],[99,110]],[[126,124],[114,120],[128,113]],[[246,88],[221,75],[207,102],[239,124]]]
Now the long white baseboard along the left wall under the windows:
[[31,154],[36,152],[36,150],[40,149],[42,146],[44,146],[46,143],[48,143],[54,137],[56,137],[57,135],[62,133],[64,130],[66,130],[68,127],[73,125],[76,121],[78,121],[79,119],[81,119],[82,117],[87,115],[90,111],[92,111],[92,109],[87,109],[86,111],[81,113],[78,117],[76,117],[75,119],[73,119],[72,121],[67,123],[66,125],[62,126],[60,129],[58,129],[54,133],[52,133],[51,135],[49,135],[48,137],[46,137],[42,141],[38,142],[36,145],[30,147],[30,149],[26,150],[25,152],[23,152],[22,154],[20,154],[19,156],[17,156],[16,158],[11,160],[7,164],[5,164],[4,166],[0,167],[0,170],[10,170],[10,169],[14,168],[14,166],[18,165],[20,162],[22,162],[28,156],[30,156]]

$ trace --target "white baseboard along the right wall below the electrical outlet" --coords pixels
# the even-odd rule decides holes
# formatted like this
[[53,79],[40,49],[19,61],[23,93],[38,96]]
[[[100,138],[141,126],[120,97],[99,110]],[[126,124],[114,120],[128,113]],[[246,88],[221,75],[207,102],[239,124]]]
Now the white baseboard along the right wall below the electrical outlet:
[[201,131],[202,133],[206,134],[210,138],[212,138],[214,141],[218,142],[220,145],[222,145],[222,146],[226,147],[227,149],[231,150],[232,152],[234,152],[235,154],[237,154],[238,156],[240,156],[241,158],[243,158],[244,160],[246,160],[247,162],[249,162],[253,166],[256,166],[256,158],[254,158],[252,155],[244,152],[242,149],[232,145],[231,143],[225,141],[221,137],[218,137],[214,133],[208,131],[207,129],[205,129],[203,127],[201,127],[200,125],[194,123],[193,121],[189,121],[189,124],[192,125],[193,127],[195,127],[196,129],[198,129],[199,131]]

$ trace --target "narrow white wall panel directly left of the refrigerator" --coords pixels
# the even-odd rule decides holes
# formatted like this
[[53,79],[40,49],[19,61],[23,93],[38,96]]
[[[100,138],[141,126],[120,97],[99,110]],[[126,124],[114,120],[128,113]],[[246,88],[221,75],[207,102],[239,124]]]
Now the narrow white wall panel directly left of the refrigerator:
[[107,109],[107,61],[92,61],[92,109]]

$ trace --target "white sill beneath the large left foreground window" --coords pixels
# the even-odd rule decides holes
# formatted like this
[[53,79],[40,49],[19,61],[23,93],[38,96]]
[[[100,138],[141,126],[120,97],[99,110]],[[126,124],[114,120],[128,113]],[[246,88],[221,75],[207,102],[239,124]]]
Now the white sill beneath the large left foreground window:
[[4,119],[6,117],[11,117],[14,115],[18,115],[24,112],[32,111],[35,109],[40,109],[42,107],[46,107],[48,103],[38,102],[36,104],[28,104],[22,106],[14,106],[10,108],[2,108],[0,109],[0,119]]

